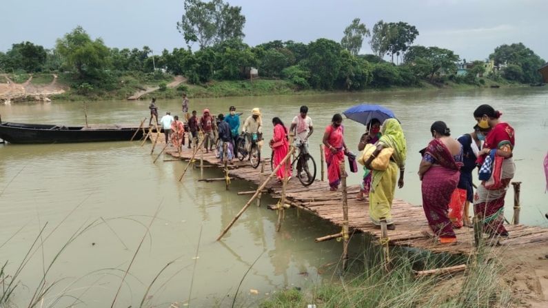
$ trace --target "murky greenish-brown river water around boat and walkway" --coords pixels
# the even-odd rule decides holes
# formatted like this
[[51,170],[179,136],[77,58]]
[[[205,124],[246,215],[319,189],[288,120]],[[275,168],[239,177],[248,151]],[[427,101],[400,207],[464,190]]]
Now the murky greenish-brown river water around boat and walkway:
[[[416,176],[418,150],[432,138],[432,122],[445,121],[453,136],[458,136],[471,132],[475,124],[472,112],[478,105],[488,103],[501,110],[503,121],[516,129],[514,180],[522,181],[520,220],[548,226],[542,171],[542,159],[548,150],[548,89],[191,99],[190,105],[199,114],[205,107],[218,114],[235,105],[244,112],[243,119],[252,107],[260,107],[267,139],[272,135],[273,116],[280,116],[289,125],[299,106],[308,105],[315,127],[311,151],[319,161],[321,136],[332,115],[363,101],[389,107],[403,123],[409,154],[405,187],[397,189],[396,197],[416,205],[421,204]],[[160,114],[179,113],[179,100],[158,103]],[[83,105],[78,102],[0,105],[0,114],[3,121],[21,123],[84,123]],[[88,103],[90,123],[139,125],[144,116],[148,116],[146,101]],[[343,125],[347,145],[357,152],[363,125],[349,120]],[[263,156],[270,156],[267,147]],[[16,271],[47,223],[30,261],[17,277],[21,285],[12,297],[17,307],[28,305],[44,268],[83,228],[84,232],[63,249],[48,271],[46,285],[56,285],[45,303],[65,295],[57,304],[73,302],[74,298],[68,296],[75,296],[89,307],[110,305],[130,267],[116,307],[136,307],[156,274],[172,261],[148,293],[146,300],[155,307],[169,307],[171,302],[183,307],[191,289],[191,306],[230,307],[236,288],[255,260],[239,289],[239,302],[246,306],[253,306],[275,290],[307,287],[331,276],[332,264],[341,255],[341,243],[314,243],[318,236],[338,232],[328,223],[292,209],[286,214],[281,232],[275,232],[276,212],[265,206],[250,207],[223,240],[216,242],[216,236],[249,198],[237,196],[236,192],[250,190],[250,185],[233,181],[227,192],[224,183],[197,182],[199,172],[190,172],[183,183],[178,183],[183,163],[159,160],[153,164],[152,160],[150,145],[140,147],[137,142],[0,145],[0,260],[9,261],[9,274]],[[218,177],[220,172],[206,170],[205,176]],[[360,178],[361,172],[350,174],[349,183],[359,183]],[[274,203],[263,199],[263,205]],[[509,220],[512,203],[510,192],[505,211]],[[93,227],[87,227],[90,224]],[[354,242],[353,252],[358,253],[360,242]],[[251,289],[258,295],[250,294]]]

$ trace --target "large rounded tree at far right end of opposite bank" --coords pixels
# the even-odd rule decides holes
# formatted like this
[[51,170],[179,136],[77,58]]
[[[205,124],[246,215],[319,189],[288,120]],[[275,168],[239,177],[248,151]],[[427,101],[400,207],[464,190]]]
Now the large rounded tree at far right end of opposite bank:
[[[495,65],[518,65],[522,70],[522,79],[520,81],[523,83],[537,83],[542,81],[538,69],[545,61],[540,59],[533,50],[527,48],[522,43],[500,45],[495,48],[495,51],[491,55],[489,55],[489,59],[493,59]],[[516,70],[512,68],[512,71]],[[515,78],[517,75],[518,74],[514,73],[511,74],[512,78]]]

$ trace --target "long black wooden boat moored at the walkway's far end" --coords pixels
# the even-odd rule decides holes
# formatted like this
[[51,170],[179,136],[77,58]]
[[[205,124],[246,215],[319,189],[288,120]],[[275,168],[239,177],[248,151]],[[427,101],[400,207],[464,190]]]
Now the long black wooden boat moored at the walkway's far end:
[[[0,138],[8,143],[80,143],[130,141],[143,137],[139,127],[121,125],[64,126],[52,124],[0,123]],[[148,127],[145,127],[148,132]]]

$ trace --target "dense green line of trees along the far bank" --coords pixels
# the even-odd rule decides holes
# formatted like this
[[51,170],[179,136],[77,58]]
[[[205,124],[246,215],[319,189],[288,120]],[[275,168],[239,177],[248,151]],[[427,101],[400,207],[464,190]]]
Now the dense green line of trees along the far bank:
[[[401,21],[374,25],[369,43],[375,54],[358,54],[369,36],[360,19],[345,28],[341,43],[276,40],[252,47],[242,41],[245,17],[241,8],[222,0],[184,3],[185,15],[178,28],[187,43],[199,43],[199,50],[174,48],[154,53],[148,46],[108,48],[102,39],[92,39],[78,26],[58,39],[52,50],[30,42],[13,44],[8,52],[0,52],[0,72],[70,72],[70,85],[83,95],[139,88],[143,81],[165,89],[163,81],[169,81],[171,74],[201,85],[214,80],[245,81],[254,68],[260,78],[283,79],[294,90],[354,91],[449,81],[485,85],[486,79],[536,83],[540,81],[537,70],[544,63],[522,43],[497,47],[490,55],[494,63],[460,63],[452,50],[412,45],[418,30]],[[394,55],[399,64],[394,63]],[[386,56],[391,61],[385,61]]]

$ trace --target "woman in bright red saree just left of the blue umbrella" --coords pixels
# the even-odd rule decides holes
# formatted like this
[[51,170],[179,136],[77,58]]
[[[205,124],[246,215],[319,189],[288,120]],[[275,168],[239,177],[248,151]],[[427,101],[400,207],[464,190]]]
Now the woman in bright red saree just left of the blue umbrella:
[[335,114],[331,120],[331,125],[325,127],[323,133],[323,145],[325,154],[325,163],[327,163],[327,179],[332,192],[338,189],[341,183],[341,161],[345,160],[347,147],[343,137],[343,116]]

